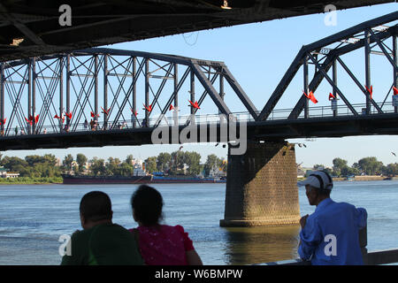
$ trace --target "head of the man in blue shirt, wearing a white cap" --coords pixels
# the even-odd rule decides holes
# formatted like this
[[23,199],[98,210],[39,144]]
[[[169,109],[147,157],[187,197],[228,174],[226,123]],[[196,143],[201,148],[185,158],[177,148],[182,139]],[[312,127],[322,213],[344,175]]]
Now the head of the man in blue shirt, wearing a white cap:
[[310,176],[297,184],[305,186],[305,194],[307,195],[310,205],[318,205],[325,198],[330,197],[333,188],[333,180],[325,171],[311,172]]

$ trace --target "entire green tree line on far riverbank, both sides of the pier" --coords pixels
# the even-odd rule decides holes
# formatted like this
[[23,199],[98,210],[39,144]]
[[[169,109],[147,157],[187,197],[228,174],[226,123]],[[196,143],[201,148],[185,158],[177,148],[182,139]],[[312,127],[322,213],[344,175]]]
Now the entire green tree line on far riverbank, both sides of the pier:
[[[19,172],[19,182],[60,182],[61,174],[73,172],[74,174],[86,173],[89,175],[121,175],[130,176],[134,172],[134,157],[128,155],[125,160],[109,157],[107,161],[103,158],[94,157],[88,160],[84,154],[73,157],[71,154],[65,156],[62,164],[57,157],[51,154],[44,156],[31,155],[25,158],[3,157],[0,154],[0,166],[4,166],[11,172]],[[211,169],[218,168],[226,172],[226,160],[214,154],[207,157],[204,164],[200,163],[201,155],[195,151],[177,150],[172,153],[162,152],[157,156],[148,157],[144,160],[144,169],[149,173],[165,172],[170,175],[186,174],[198,175],[210,174]],[[59,165],[58,165],[59,164]],[[88,166],[89,164],[89,166]],[[323,164],[315,164],[313,169],[325,168]],[[343,177],[352,175],[398,175],[398,163],[383,164],[377,157],[364,157],[358,162],[348,165],[348,161],[336,157],[333,159],[333,167],[325,168],[332,176]],[[1,179],[0,179],[1,180]],[[4,182],[15,182],[16,180],[2,180]]]

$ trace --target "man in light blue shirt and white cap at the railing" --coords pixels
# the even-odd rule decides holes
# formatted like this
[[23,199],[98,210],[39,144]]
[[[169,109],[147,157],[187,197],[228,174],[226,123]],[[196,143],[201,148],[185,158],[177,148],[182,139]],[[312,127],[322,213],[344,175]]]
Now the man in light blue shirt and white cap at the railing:
[[300,219],[300,257],[313,265],[364,264],[358,231],[366,226],[366,210],[333,202],[333,180],[327,172],[312,172],[297,185],[305,186],[310,205],[317,206]]

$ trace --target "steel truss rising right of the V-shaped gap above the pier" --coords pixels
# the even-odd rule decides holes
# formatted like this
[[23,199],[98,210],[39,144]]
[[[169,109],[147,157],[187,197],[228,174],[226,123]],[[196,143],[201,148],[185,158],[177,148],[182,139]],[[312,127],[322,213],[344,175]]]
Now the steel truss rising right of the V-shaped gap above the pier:
[[[378,27],[383,27],[387,23],[394,22],[394,20],[398,19],[398,11],[394,11],[385,16],[371,19],[362,24],[356,25],[355,27],[350,27],[345,29],[337,34],[333,34],[328,36],[318,42],[313,42],[309,45],[302,46],[302,49],[297,53],[294,61],[287,69],[287,72],[279,81],[278,86],[272,92],[272,96],[264,105],[263,110],[258,115],[257,120],[266,120],[270,117],[272,111],[274,110],[276,104],[279,102],[281,96],[284,95],[285,90],[289,86],[290,82],[295,78],[295,75],[298,73],[299,69],[303,66],[303,88],[306,90],[306,93],[310,91],[315,92],[322,82],[322,80],[327,80],[331,87],[333,88],[334,97],[339,96],[341,100],[347,105],[348,109],[351,111],[352,115],[357,116],[358,112],[355,110],[353,105],[349,103],[348,97],[344,96],[341,92],[337,84],[337,75],[333,72],[333,78],[327,74],[331,68],[334,71],[337,68],[337,63],[339,63],[343,69],[348,73],[352,80],[356,83],[358,88],[364,93],[364,97],[366,100],[366,114],[370,114],[371,105],[379,112],[383,113],[382,106],[376,103],[373,99],[371,99],[371,94],[369,93],[364,86],[371,85],[371,63],[369,57],[371,53],[377,53],[379,55],[383,55],[387,57],[387,60],[391,63],[393,67],[394,74],[394,82],[393,86],[397,88],[398,79],[398,59],[397,59],[397,44],[396,44],[396,36],[398,34],[398,27],[395,24],[392,27],[384,27],[384,29],[377,30]],[[392,48],[389,48],[386,44],[386,40],[388,38],[392,38]],[[355,42],[352,42],[352,40]],[[333,48],[328,48],[329,46],[336,44]],[[373,44],[371,46],[371,44]],[[380,51],[372,51],[371,49],[374,47],[379,47]],[[347,54],[348,52],[358,50],[360,48],[364,48],[365,54],[365,82],[364,84],[360,83],[360,80],[356,78],[356,76],[349,70],[348,66],[344,64],[341,59],[341,56]],[[390,55],[392,53],[392,56]],[[323,57],[318,58],[319,55],[323,55]],[[308,65],[309,63],[316,66],[316,72],[310,82],[308,81]],[[392,87],[390,88],[388,94],[392,91]],[[388,96],[387,94],[387,96]],[[386,98],[387,98],[386,96]],[[386,102],[386,99],[384,100]],[[383,102],[383,104],[384,104]],[[304,118],[308,118],[308,107],[309,107],[309,98],[306,96],[301,96],[299,101],[295,104],[293,111],[291,111],[288,119],[297,119],[299,115],[304,111]],[[396,109],[395,109],[396,111]]]

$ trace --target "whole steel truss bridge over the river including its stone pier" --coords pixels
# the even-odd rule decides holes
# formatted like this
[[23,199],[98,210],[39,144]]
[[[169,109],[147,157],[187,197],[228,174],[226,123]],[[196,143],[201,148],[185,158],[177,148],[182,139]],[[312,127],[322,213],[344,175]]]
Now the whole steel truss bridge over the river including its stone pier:
[[[164,143],[180,143],[181,134],[185,142],[228,142],[220,225],[296,224],[295,145],[287,138],[398,134],[397,19],[394,11],[304,45],[261,110],[223,62],[110,49],[3,62],[0,150],[152,144],[154,132]],[[357,50],[364,64],[355,67],[364,67],[364,78],[344,59]],[[381,96],[378,90],[378,101],[371,56],[385,57],[391,67],[391,84]],[[350,102],[353,94],[342,90],[337,70],[352,80],[362,103]],[[292,97],[287,87],[300,75],[302,89]],[[318,106],[322,81],[329,85],[330,105]],[[244,111],[233,111],[226,96]],[[276,108],[282,96],[295,106]],[[234,154],[239,139],[246,150]]]

